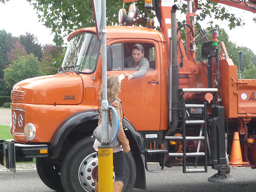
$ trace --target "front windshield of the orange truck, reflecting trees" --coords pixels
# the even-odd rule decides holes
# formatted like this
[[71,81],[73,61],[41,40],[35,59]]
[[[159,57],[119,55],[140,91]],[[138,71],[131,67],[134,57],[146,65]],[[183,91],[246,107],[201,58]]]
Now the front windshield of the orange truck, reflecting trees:
[[74,36],[68,45],[62,69],[92,73],[96,69],[99,56],[100,41],[92,33],[82,33]]

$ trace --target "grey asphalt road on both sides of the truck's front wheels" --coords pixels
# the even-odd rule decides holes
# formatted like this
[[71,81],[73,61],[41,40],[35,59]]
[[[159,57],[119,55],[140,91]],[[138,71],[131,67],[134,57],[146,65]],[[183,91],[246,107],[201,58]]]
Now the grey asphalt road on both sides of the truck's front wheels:
[[[207,179],[216,173],[209,168],[208,173],[183,174],[182,167],[164,168],[160,173],[146,172],[147,192],[252,192],[256,189],[256,170],[244,167],[232,167],[234,183],[211,183]],[[24,173],[26,174],[26,173]],[[15,183],[15,185],[14,185]],[[38,177],[20,179],[0,179],[0,191],[3,192],[52,192]],[[133,192],[145,190],[134,189]]]

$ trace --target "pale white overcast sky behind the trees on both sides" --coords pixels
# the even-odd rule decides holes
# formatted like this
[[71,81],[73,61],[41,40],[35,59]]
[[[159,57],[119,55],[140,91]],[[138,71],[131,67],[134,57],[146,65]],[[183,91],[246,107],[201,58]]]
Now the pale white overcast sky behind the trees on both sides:
[[[256,24],[252,21],[256,14],[248,11],[238,11],[236,8],[231,8],[229,11],[239,12],[239,15],[243,16],[246,25],[229,31],[228,22],[215,22],[227,31],[232,42],[235,42],[238,46],[248,47],[256,54]],[[177,18],[179,19],[179,17]],[[204,27],[203,25],[206,25],[206,23],[201,24],[202,27]],[[53,44],[54,35],[51,34],[51,29],[47,29],[42,23],[38,23],[36,11],[26,0],[10,0],[5,4],[0,3],[0,30],[3,29],[12,33],[12,36],[25,35],[26,32],[30,32],[37,36],[41,45]],[[63,37],[63,39],[67,41],[67,37]]]

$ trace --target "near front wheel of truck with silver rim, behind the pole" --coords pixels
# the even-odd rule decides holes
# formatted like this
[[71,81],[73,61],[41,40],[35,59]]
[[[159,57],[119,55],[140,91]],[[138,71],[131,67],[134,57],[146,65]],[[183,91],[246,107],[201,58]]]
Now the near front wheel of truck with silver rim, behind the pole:
[[[75,143],[61,165],[61,183],[66,192],[92,192],[98,176],[98,158],[93,148],[95,139],[87,137]],[[122,191],[132,191],[136,180],[136,166],[132,154],[125,154],[126,173]],[[86,171],[87,170],[87,171]]]

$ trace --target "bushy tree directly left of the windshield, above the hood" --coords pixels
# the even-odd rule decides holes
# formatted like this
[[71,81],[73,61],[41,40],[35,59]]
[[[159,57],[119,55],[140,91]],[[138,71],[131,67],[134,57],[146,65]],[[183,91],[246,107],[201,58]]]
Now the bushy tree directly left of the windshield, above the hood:
[[61,67],[65,51],[62,46],[46,45],[41,61],[41,75],[53,75]]

